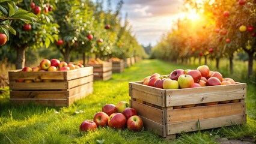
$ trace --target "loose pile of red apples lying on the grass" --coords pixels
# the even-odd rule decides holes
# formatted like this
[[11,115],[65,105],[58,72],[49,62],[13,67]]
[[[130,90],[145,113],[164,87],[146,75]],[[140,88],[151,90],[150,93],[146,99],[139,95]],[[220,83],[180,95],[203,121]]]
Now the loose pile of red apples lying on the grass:
[[143,127],[141,117],[137,115],[135,109],[130,108],[130,104],[126,101],[120,101],[117,106],[115,104],[105,104],[102,112],[94,115],[93,121],[85,120],[80,125],[79,131],[95,130],[97,127],[109,126],[115,129],[128,128],[132,131],[140,131]]

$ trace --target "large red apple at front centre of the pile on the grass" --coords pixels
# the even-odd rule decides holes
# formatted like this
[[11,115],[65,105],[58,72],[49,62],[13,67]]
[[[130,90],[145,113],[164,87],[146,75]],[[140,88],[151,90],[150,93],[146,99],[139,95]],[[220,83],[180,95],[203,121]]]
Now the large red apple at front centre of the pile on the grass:
[[123,113],[112,113],[108,119],[108,125],[111,128],[122,129],[126,127],[126,116]]

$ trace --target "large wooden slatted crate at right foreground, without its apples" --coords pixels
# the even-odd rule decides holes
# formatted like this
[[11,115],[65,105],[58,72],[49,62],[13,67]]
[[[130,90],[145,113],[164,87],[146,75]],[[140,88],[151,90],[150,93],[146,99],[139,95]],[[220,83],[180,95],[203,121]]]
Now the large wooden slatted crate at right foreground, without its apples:
[[[246,84],[205,86],[187,89],[159,89],[129,83],[130,105],[144,121],[144,127],[166,139],[181,131],[197,131],[246,122]],[[237,100],[205,106],[204,103]],[[178,108],[189,104],[195,107]]]

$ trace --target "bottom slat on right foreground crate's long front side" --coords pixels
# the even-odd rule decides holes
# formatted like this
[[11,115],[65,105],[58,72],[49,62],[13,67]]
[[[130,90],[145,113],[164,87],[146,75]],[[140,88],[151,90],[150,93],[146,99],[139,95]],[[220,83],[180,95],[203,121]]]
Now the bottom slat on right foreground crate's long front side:
[[[201,130],[207,130],[210,128],[218,128],[224,126],[230,126],[234,124],[244,124],[246,122],[246,115],[231,115],[223,116],[221,118],[210,118],[210,119],[199,119]],[[181,131],[197,131],[198,130],[198,121],[187,121],[187,122],[177,122],[167,125],[167,134],[177,134]]]

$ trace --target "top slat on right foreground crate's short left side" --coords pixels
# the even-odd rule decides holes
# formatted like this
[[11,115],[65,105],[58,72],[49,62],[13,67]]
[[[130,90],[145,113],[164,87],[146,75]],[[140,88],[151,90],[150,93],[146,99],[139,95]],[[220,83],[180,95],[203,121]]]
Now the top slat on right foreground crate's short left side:
[[141,85],[136,82],[129,83],[129,95],[132,98],[146,101],[157,106],[165,106],[165,90],[157,89],[151,86]]

